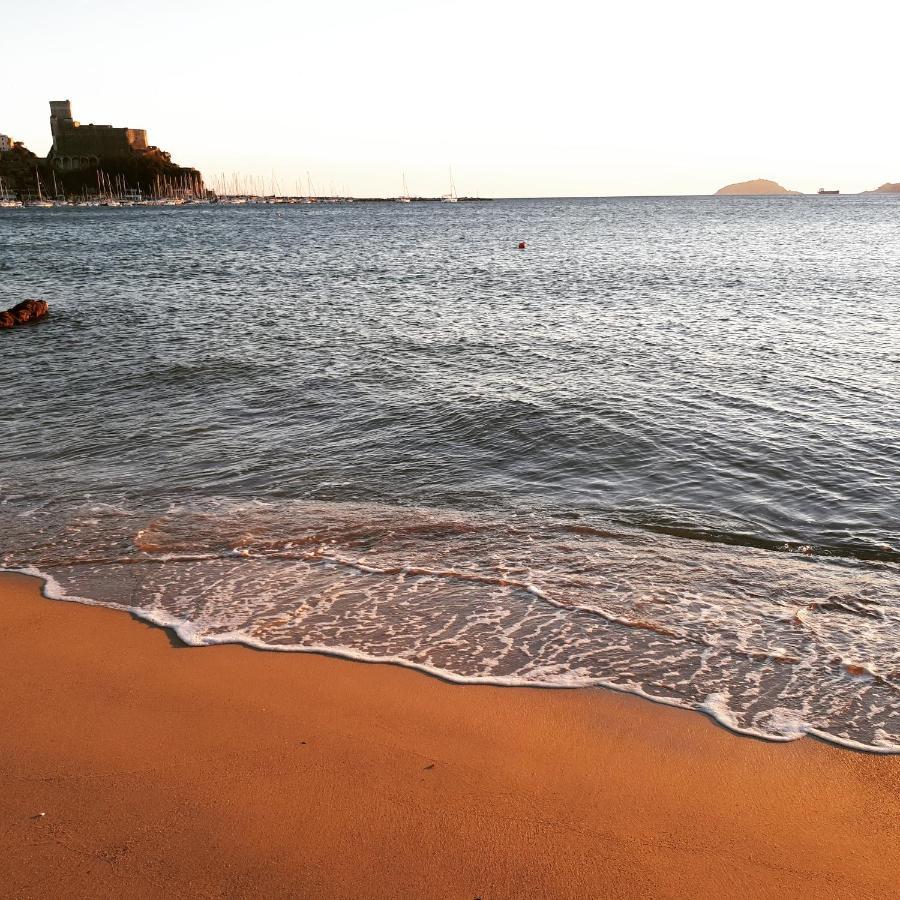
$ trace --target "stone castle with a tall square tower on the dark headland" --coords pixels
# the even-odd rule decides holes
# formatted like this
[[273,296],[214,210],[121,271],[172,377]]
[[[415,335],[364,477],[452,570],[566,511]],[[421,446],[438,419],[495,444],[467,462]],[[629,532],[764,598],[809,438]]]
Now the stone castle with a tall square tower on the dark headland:
[[147,144],[143,128],[114,128],[112,125],[82,125],[72,118],[68,100],[50,101],[50,132],[53,147],[48,160],[58,171],[66,172],[96,166],[101,160],[121,159],[147,153],[168,158],[157,147]]

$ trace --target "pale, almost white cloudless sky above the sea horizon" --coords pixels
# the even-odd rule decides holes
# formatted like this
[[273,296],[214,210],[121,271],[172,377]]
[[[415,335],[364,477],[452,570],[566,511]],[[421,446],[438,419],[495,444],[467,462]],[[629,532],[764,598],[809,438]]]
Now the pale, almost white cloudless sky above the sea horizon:
[[4,4],[0,132],[50,99],[208,180],[319,193],[710,193],[900,181],[900,4],[42,0]]

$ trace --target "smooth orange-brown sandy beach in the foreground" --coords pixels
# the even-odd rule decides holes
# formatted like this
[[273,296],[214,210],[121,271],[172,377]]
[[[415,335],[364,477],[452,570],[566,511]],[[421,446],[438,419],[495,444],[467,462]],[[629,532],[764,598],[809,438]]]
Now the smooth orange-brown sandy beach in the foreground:
[[[0,576],[0,895],[885,897],[900,757],[188,648]],[[45,815],[41,816],[40,813]]]

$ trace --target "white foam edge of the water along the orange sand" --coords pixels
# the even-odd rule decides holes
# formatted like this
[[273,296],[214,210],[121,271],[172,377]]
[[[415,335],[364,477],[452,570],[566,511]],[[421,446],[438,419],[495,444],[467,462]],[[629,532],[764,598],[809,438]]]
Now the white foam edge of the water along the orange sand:
[[[373,571],[380,572],[381,570],[374,569]],[[319,656],[332,656],[338,659],[352,660],[353,662],[402,666],[405,669],[412,669],[416,672],[424,672],[427,675],[432,675],[435,678],[439,678],[441,681],[459,685],[481,685],[485,687],[525,687],[541,688],[544,690],[571,690],[573,688],[602,687],[607,688],[611,691],[616,691],[620,694],[631,694],[637,697],[642,697],[645,700],[650,700],[653,703],[659,703],[663,706],[671,706],[675,709],[684,709],[703,713],[716,721],[727,731],[731,731],[734,734],[744,735],[745,737],[757,738],[758,740],[767,741],[769,743],[787,744],[791,741],[798,740],[801,737],[809,736],[818,738],[819,740],[829,744],[834,744],[839,747],[844,747],[848,750],[855,750],[862,753],[873,753],[883,756],[900,754],[900,746],[898,745],[883,746],[878,744],[863,744],[850,738],[839,737],[819,728],[814,728],[806,724],[805,722],[798,725],[797,733],[795,735],[772,735],[767,734],[763,731],[757,731],[753,728],[741,728],[739,725],[736,725],[734,723],[730,714],[726,710],[720,708],[719,704],[715,703],[714,701],[710,700],[701,704],[694,705],[669,697],[657,697],[653,694],[648,694],[643,688],[638,687],[637,685],[616,684],[615,682],[606,681],[601,678],[588,679],[583,681],[573,680],[571,682],[561,682],[529,680],[527,678],[517,678],[514,676],[466,676],[457,675],[455,672],[450,672],[447,669],[439,669],[436,666],[429,666],[425,663],[412,662],[411,660],[403,659],[402,657],[398,656],[374,656],[371,654],[362,653],[361,651],[354,650],[351,647],[326,647],[320,645],[308,646],[305,644],[267,644],[264,641],[252,638],[241,631],[230,631],[215,636],[199,638],[196,624],[188,619],[179,619],[176,616],[172,616],[159,610],[146,610],[137,606],[128,606],[123,603],[115,602],[101,603],[98,600],[92,600],[88,597],[76,597],[69,595],[65,592],[59,582],[57,582],[53,578],[52,575],[49,575],[46,572],[42,572],[35,566],[24,566],[22,568],[16,569],[8,569],[0,566],[0,573],[2,572],[11,572],[19,575],[30,575],[33,578],[40,579],[43,582],[41,593],[48,600],[61,600],[68,603],[80,603],[85,606],[101,606],[107,607],[109,609],[117,609],[121,610],[122,612],[131,613],[137,618],[145,622],[149,622],[151,625],[156,625],[161,628],[168,628],[172,630],[178,636],[179,640],[183,641],[185,644],[191,647],[210,647],[226,644],[239,644],[245,647],[250,647],[254,650],[265,650],[268,652],[314,653]],[[569,609],[570,607],[562,608]]]

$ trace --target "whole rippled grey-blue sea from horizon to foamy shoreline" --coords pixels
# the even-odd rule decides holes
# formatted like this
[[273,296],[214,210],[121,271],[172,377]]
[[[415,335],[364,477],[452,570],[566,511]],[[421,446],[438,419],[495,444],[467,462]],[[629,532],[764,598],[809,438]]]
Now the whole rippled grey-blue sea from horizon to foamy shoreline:
[[897,198],[0,210],[0,284],[56,595],[900,750]]

